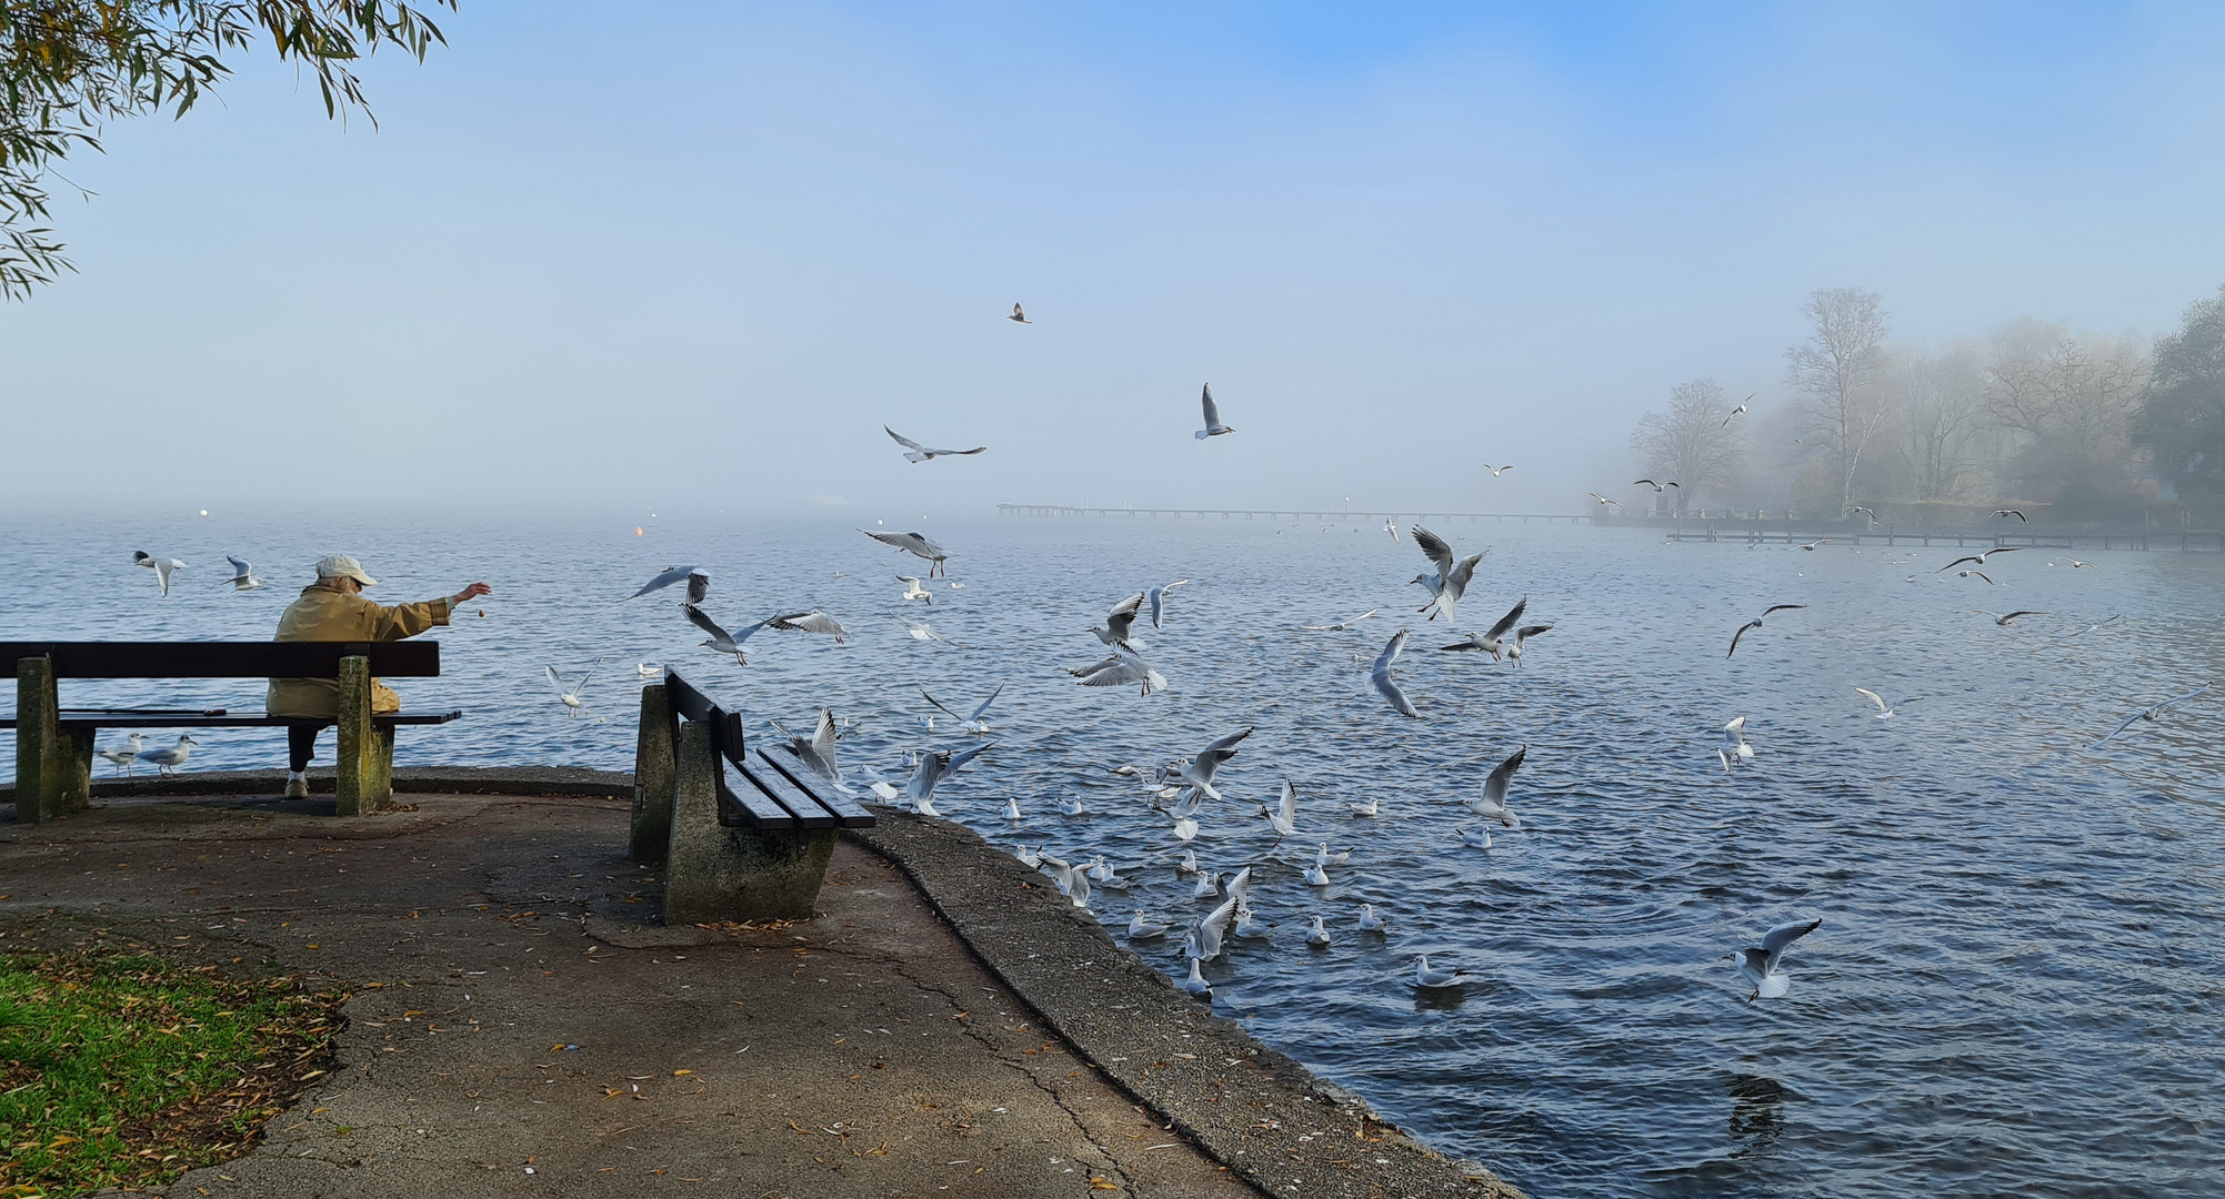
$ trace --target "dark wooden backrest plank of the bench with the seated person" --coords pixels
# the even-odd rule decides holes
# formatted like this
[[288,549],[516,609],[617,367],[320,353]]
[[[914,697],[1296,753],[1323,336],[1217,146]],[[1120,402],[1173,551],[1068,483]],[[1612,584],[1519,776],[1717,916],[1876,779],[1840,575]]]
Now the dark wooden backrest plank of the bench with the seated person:
[[0,672],[51,658],[56,678],[334,678],[340,658],[372,674],[438,678],[438,641],[0,641]]

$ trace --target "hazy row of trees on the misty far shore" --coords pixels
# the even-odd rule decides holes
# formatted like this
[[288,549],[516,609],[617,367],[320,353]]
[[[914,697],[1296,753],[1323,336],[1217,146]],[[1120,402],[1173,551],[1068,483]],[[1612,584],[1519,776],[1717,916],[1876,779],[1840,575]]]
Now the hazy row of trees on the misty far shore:
[[[1891,340],[1876,291],[1827,287],[1784,349],[1782,389],[1680,383],[1631,432],[1642,472],[1680,487],[1631,512],[1791,512],[1967,523],[2225,514],[2225,287],[2149,343],[2011,320],[1942,347]],[[1751,412],[1731,418],[1740,403]],[[1860,509],[1860,512],[1858,512]]]

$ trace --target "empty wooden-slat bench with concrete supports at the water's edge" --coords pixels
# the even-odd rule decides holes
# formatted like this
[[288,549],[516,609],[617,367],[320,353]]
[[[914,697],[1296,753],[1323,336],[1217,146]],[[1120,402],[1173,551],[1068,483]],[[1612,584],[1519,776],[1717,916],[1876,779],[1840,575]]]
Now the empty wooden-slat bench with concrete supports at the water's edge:
[[872,823],[679,674],[641,690],[632,856],[665,863],[665,923],[810,919],[834,839]]

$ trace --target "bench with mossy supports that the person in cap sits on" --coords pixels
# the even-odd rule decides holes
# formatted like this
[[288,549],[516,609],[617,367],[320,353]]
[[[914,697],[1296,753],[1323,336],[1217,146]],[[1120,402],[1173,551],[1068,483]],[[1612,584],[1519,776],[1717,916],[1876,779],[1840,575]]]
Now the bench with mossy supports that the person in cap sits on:
[[[340,725],[338,812],[394,799],[394,730],[463,712],[372,712],[372,678],[436,678],[438,641],[0,641],[16,672],[16,821],[53,821],[91,803],[98,730]],[[340,714],[267,716],[225,707],[62,707],[62,678],[338,678]]]

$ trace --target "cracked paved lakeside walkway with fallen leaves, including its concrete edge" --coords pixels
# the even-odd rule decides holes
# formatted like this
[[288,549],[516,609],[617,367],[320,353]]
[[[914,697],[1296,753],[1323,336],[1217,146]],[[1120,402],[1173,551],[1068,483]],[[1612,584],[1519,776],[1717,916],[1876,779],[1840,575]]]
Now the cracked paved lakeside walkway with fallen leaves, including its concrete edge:
[[623,801],[400,799],[0,823],[0,945],[154,941],[352,992],[334,1072],[165,1195],[1520,1199],[961,825],[883,814],[812,921],[663,928]]

